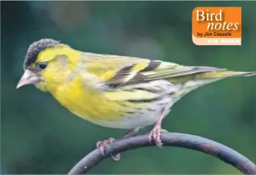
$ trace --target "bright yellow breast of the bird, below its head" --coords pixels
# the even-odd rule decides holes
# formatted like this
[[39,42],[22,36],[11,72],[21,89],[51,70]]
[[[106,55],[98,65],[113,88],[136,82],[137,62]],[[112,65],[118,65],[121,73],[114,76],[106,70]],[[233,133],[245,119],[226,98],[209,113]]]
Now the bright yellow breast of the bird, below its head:
[[60,104],[86,120],[118,120],[123,111],[123,106],[110,101],[105,92],[82,85],[79,77],[50,91]]

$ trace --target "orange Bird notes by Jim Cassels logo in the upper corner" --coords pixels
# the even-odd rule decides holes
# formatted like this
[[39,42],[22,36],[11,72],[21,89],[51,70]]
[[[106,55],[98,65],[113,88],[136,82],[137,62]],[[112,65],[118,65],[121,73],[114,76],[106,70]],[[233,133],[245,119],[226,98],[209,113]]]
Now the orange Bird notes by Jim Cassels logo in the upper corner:
[[197,45],[241,45],[241,7],[196,7],[192,41]]

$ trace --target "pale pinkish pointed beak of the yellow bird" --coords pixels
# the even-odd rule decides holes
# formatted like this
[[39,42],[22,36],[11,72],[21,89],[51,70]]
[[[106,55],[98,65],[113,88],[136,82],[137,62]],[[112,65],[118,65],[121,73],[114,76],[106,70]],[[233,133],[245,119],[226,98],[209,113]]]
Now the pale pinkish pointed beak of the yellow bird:
[[20,81],[18,82],[17,89],[24,85],[29,85],[35,82],[38,82],[39,78],[36,74],[34,74],[30,70],[26,70],[23,74],[23,76],[20,78]]

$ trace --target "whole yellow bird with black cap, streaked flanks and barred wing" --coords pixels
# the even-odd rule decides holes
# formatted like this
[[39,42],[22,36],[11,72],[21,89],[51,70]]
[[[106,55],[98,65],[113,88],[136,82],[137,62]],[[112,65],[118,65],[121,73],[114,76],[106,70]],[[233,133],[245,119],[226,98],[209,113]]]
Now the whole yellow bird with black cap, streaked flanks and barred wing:
[[[162,147],[162,120],[181,97],[203,85],[227,77],[248,77],[256,71],[229,71],[211,66],[102,55],[75,50],[55,39],[30,44],[17,89],[35,85],[50,93],[78,117],[107,128],[129,130],[154,125],[148,141]],[[98,141],[104,155],[114,138]],[[120,155],[112,155],[119,160]]]

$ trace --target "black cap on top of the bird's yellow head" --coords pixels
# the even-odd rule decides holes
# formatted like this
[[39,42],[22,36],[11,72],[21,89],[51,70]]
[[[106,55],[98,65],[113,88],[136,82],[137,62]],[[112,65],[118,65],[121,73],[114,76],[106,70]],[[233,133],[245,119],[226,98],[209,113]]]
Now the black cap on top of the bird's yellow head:
[[28,69],[28,66],[37,60],[37,56],[39,52],[42,52],[42,50],[45,50],[49,47],[54,47],[57,44],[60,44],[60,42],[54,39],[40,39],[37,42],[33,42],[29,46],[28,52],[26,53],[26,58],[23,64],[23,68]]

